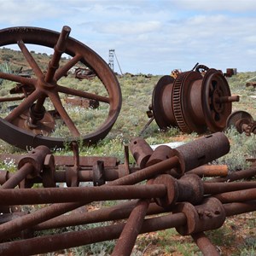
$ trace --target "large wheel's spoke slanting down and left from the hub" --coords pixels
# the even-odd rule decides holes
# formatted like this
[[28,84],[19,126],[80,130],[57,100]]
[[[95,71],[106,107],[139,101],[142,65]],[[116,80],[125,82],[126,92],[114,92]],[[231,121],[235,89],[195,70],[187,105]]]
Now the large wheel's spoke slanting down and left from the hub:
[[9,115],[5,118],[10,123],[13,122],[16,118],[20,116],[21,113],[24,113],[33,102],[35,102],[38,97],[42,94],[39,90],[34,90],[31,95],[27,96],[26,99],[20,103],[20,105],[15,108]]

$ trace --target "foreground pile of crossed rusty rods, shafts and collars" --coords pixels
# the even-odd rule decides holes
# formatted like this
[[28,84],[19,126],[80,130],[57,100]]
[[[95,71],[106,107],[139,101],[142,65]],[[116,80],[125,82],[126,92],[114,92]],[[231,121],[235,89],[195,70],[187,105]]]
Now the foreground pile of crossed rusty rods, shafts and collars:
[[[138,138],[135,139],[137,141]],[[0,172],[1,183],[5,180],[1,187],[0,209],[2,211],[4,207],[9,207],[9,212],[3,212],[0,216],[0,255],[49,253],[110,239],[118,239],[113,255],[130,255],[138,234],[171,228],[176,228],[182,236],[192,236],[202,253],[218,253],[204,232],[218,229],[228,216],[256,210],[256,183],[232,182],[239,177],[252,177],[255,175],[255,168],[237,175],[228,175],[229,183],[222,182],[227,177],[204,181],[199,175],[189,173],[195,170],[195,166],[204,166],[208,161],[229,152],[229,142],[221,132],[175,149],[156,148],[155,151],[150,151],[149,157],[148,148],[144,145],[145,143],[138,143],[138,148],[131,147],[133,153],[139,152],[140,156],[147,156],[148,160],[145,160],[143,168],[132,169],[129,166],[127,146],[123,164],[125,172],[122,171],[121,175],[118,173],[122,170],[119,169],[119,163],[110,158],[107,164],[106,158],[109,170],[117,172],[108,183],[102,183],[102,177],[108,173],[103,160],[97,160],[96,157],[87,159],[84,160],[84,166],[80,166],[83,158],[79,157],[77,143],[73,143],[73,159],[66,160],[62,157],[60,160],[61,163],[68,162],[68,168],[74,167],[73,172],[69,172],[67,168],[57,174],[55,156],[46,147],[35,148],[34,153],[20,158],[17,163],[19,169],[14,174]],[[139,166],[141,161],[138,159]],[[180,173],[180,177],[172,177],[173,168]],[[21,176],[17,175],[20,170],[24,172]],[[43,175],[45,170],[46,182]],[[67,177],[67,172],[70,177]],[[78,187],[84,172],[87,172],[86,175],[94,181],[95,186]],[[21,183],[29,186],[23,186],[23,189],[12,188],[8,182],[13,177],[19,177]],[[67,188],[56,186],[58,178],[67,183]],[[46,188],[31,189],[36,180],[46,184]],[[127,199],[132,201],[123,202]],[[90,202],[107,200],[118,202],[113,207],[89,212],[86,210]],[[41,207],[22,214],[13,211],[13,206],[18,209],[31,204]],[[152,217],[152,214],[157,213],[161,213],[160,216]],[[108,226],[103,224],[111,220],[119,221]],[[19,235],[26,230],[30,230],[30,236],[33,236],[33,231],[37,230],[61,229],[96,222],[102,223],[101,226],[61,232],[59,235],[42,234],[32,238]],[[16,240],[9,240],[13,238]]]

